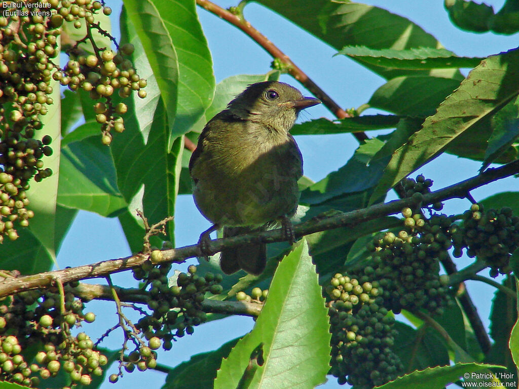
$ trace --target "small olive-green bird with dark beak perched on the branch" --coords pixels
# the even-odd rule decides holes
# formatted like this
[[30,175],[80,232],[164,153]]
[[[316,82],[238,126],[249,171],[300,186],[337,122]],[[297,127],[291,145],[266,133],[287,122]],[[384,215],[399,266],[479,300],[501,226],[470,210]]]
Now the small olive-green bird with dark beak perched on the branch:
[[[303,157],[289,131],[302,109],[320,103],[283,82],[258,82],[206,124],[189,161],[195,204],[213,223],[200,235],[202,251],[209,234],[222,227],[227,238],[281,221],[290,237]],[[258,275],[265,262],[265,243],[225,248],[220,255],[226,274],[243,269]]]

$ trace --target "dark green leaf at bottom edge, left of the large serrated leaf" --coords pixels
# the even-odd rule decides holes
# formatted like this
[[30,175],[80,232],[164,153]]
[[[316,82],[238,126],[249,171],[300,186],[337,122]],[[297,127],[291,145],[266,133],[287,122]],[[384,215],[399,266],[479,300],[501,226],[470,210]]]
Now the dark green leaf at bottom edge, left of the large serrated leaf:
[[171,369],[162,389],[213,389],[216,370],[240,338],[224,343],[218,350],[193,355]]

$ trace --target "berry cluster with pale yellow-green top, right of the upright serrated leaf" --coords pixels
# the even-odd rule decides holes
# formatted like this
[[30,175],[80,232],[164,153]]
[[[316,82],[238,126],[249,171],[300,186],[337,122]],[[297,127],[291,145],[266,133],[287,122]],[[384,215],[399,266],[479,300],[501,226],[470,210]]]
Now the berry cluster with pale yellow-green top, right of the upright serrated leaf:
[[383,290],[367,276],[335,274],[326,287],[331,299],[331,374],[339,384],[368,389],[395,379],[403,370],[391,350],[394,317],[384,307]]

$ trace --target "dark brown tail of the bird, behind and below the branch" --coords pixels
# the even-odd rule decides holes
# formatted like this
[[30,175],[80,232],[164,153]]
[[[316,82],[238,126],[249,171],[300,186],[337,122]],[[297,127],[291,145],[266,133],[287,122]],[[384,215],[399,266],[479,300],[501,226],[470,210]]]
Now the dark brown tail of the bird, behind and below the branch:
[[[235,237],[253,231],[262,231],[265,227],[224,227],[224,238]],[[260,275],[267,261],[265,243],[247,244],[224,248],[220,254],[220,267],[225,274],[232,274],[240,269],[247,273]]]

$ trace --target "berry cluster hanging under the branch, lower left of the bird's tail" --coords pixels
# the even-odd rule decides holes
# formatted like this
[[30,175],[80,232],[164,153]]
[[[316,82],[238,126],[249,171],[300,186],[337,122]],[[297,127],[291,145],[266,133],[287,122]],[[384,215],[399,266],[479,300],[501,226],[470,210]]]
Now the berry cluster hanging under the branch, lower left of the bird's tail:
[[[152,252],[151,259],[159,254],[158,250]],[[171,350],[175,338],[192,335],[195,326],[207,321],[207,315],[201,309],[206,293],[222,293],[220,274],[198,275],[197,267],[192,265],[187,273],[179,273],[176,282],[171,284],[167,276],[170,270],[170,263],[157,266],[152,261],[133,269],[133,277],[142,281],[142,288],[147,290],[147,305],[151,313],[135,324],[144,333],[148,345],[144,348],[140,345],[130,354],[130,361],[125,363],[127,371],[133,371],[135,365],[140,370],[150,367],[149,360],[155,357],[150,357],[153,354],[148,353],[148,349],[156,350],[162,346],[164,350]]]

